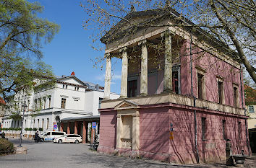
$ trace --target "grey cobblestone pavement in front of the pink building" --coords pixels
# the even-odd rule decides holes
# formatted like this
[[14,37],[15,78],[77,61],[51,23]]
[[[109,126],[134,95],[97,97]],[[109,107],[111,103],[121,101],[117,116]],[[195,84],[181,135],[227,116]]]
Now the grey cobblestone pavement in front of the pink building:
[[[18,139],[10,139],[18,144]],[[168,164],[147,159],[129,159],[122,156],[98,154],[90,151],[86,144],[74,143],[35,143],[25,140],[23,147],[27,147],[27,154],[14,154],[0,156],[1,168],[40,168],[40,167],[226,167],[224,163],[218,164]],[[256,157],[248,160],[250,167],[256,167]],[[247,165],[249,167],[249,165]]]

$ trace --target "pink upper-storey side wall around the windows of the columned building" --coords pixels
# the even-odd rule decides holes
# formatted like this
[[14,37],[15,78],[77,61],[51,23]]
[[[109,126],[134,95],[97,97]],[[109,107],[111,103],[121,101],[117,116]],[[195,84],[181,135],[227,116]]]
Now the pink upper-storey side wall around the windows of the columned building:
[[[184,40],[181,48],[181,85],[182,94],[191,94],[191,71],[190,71],[189,41]],[[204,68],[205,73],[205,100],[218,102],[218,82],[216,76],[223,78],[223,90],[225,105],[234,106],[233,84],[238,84],[239,107],[242,108],[241,84],[239,68],[232,66],[226,61],[216,58],[210,53],[192,45],[192,80],[193,94],[197,97],[197,69]],[[242,86],[243,87],[243,86]],[[243,92],[244,93],[244,92]],[[243,95],[244,101],[244,95]]]

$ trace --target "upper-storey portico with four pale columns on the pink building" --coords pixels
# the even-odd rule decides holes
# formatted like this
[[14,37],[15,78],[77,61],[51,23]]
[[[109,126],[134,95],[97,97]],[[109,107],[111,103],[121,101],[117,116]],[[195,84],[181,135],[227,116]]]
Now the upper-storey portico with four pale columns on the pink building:
[[[134,75],[135,73],[132,73],[132,69],[129,69],[129,62],[131,62],[131,59],[135,56],[129,56],[132,55],[132,49],[136,48],[137,53],[140,53],[140,56],[137,56],[137,66],[140,67],[139,71],[137,71],[137,76],[140,76],[140,86],[138,86],[138,90],[140,90],[140,93],[134,96],[146,96],[148,95],[148,76],[149,76],[149,70],[148,70],[148,50],[149,50],[149,44],[153,43],[155,41],[159,42],[159,39],[164,39],[164,56],[163,61],[164,63],[158,63],[161,68],[163,68],[163,90],[161,92],[172,92],[172,68],[174,60],[173,58],[176,56],[173,56],[172,50],[171,50],[171,39],[174,38],[174,34],[171,33],[170,30],[163,31],[159,33],[158,35],[155,35],[154,37],[149,37],[150,40],[144,39],[140,40],[137,43],[133,43],[130,45],[127,45],[122,48],[117,48],[116,50],[113,50],[111,53],[106,53],[106,77],[105,77],[105,90],[104,90],[104,99],[108,100],[109,94],[110,94],[110,85],[111,85],[111,57],[116,56],[118,58],[121,58],[121,92],[120,92],[120,98],[127,98],[128,96],[128,81],[130,74]],[[179,37],[176,36],[176,40]],[[152,50],[152,48],[150,48]],[[128,53],[129,50],[130,52]],[[132,62],[136,63],[135,61]],[[152,63],[152,61],[150,62]],[[155,62],[153,62],[155,63]],[[157,63],[155,63],[157,64]],[[176,65],[179,63],[176,63]],[[151,65],[151,70],[153,67]],[[161,68],[158,68],[158,70],[162,70]],[[153,70],[155,70],[153,69]],[[138,83],[138,82],[137,82]],[[159,92],[158,92],[159,93]],[[152,93],[151,93],[152,94]],[[133,97],[133,96],[132,96]]]

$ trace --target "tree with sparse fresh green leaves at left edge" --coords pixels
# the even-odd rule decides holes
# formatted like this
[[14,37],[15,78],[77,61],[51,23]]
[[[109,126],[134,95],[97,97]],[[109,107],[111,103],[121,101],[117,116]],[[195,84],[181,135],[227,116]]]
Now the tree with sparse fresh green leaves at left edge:
[[41,40],[51,42],[59,25],[37,17],[43,6],[25,0],[0,0],[0,96],[7,102],[14,94],[35,87],[34,78],[53,77],[43,57]]

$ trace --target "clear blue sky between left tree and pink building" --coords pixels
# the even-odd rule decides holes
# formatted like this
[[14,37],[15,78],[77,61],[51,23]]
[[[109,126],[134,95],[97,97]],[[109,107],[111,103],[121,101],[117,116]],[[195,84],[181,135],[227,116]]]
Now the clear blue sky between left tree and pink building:
[[[29,0],[34,2],[35,0]],[[85,0],[38,0],[44,11],[38,17],[56,22],[61,29],[51,43],[43,43],[43,61],[51,65],[56,76],[75,76],[82,81],[90,81],[104,87],[105,67],[93,68],[94,58],[103,56],[103,51],[94,50],[90,35],[93,30],[85,30],[82,21],[86,12],[80,6]],[[111,92],[120,93],[121,61],[112,61]],[[104,61],[105,63],[105,61]]]

